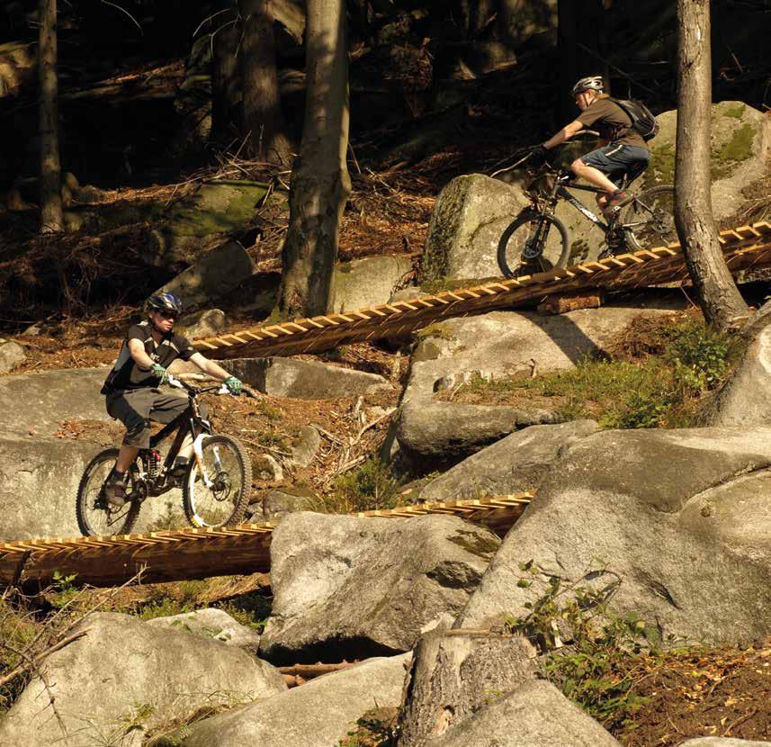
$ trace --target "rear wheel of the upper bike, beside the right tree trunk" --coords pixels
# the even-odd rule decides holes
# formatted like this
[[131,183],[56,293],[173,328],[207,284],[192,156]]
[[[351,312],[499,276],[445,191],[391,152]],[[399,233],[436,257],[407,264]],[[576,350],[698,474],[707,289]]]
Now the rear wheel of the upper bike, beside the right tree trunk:
[[658,186],[635,194],[621,216],[626,242],[635,251],[677,241],[675,187]]

